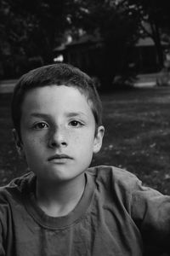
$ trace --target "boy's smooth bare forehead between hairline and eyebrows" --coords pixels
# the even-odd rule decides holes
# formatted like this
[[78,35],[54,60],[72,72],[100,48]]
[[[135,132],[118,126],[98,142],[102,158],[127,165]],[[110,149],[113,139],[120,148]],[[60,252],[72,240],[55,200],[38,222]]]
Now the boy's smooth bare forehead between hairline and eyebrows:
[[63,108],[71,113],[92,112],[92,102],[82,90],[75,86],[47,85],[26,92],[22,111],[30,112],[33,108]]

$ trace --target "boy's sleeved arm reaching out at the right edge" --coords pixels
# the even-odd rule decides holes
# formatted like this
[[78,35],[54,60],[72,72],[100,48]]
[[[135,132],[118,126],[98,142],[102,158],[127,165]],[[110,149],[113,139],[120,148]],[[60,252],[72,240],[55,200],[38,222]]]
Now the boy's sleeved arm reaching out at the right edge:
[[146,247],[170,252],[170,196],[136,183],[132,194],[132,218]]

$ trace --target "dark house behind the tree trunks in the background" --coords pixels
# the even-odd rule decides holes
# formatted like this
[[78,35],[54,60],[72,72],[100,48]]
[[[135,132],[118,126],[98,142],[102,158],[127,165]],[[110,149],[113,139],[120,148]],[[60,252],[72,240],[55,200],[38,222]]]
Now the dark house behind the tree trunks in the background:
[[[90,75],[98,76],[102,72],[104,40],[97,36],[83,35],[69,44],[54,49],[54,61],[65,61]],[[163,44],[163,48],[167,45]],[[62,57],[61,57],[62,56]],[[129,69],[134,73],[158,72],[156,47],[151,38],[139,38],[137,44],[128,49]]]

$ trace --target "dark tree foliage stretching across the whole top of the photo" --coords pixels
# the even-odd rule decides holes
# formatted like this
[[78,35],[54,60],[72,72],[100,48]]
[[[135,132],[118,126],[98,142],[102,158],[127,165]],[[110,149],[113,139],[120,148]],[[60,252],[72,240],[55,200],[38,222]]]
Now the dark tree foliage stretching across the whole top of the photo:
[[170,30],[169,7],[169,0],[2,0],[0,75],[19,76],[50,63],[54,47],[65,42],[68,33],[77,37],[80,30],[98,33],[103,40],[99,74],[106,84],[129,72],[127,49],[141,35],[154,39],[161,67],[161,34],[166,38]]

